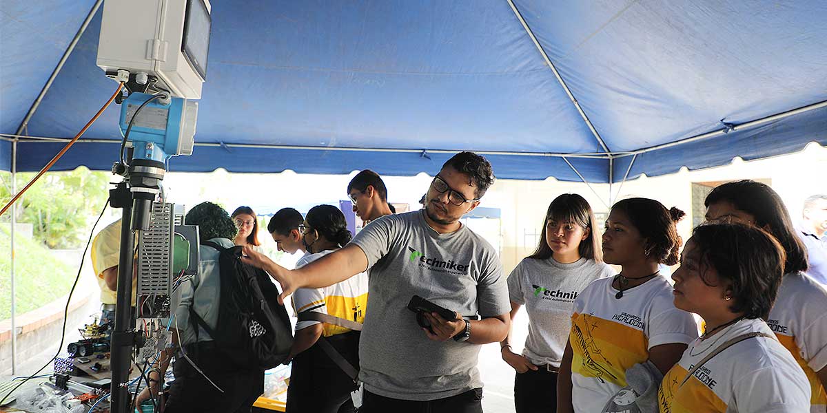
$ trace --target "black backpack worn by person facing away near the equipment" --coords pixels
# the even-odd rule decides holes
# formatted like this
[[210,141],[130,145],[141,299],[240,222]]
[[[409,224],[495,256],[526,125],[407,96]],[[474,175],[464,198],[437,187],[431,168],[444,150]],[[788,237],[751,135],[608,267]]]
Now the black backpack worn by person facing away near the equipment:
[[210,241],[202,245],[220,251],[221,290],[215,330],[189,308],[196,337],[197,323],[237,368],[266,370],[278,366],[293,344],[287,310],[278,301],[279,289],[264,270],[241,262],[242,247],[224,248]]

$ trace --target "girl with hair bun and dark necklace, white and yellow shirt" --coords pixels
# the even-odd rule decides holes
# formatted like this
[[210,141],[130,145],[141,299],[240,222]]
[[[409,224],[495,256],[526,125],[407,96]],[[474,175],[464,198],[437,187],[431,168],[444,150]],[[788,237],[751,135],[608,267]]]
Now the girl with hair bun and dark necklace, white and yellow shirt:
[[557,380],[557,412],[595,413],[626,381],[633,365],[653,363],[666,373],[698,336],[694,317],[675,308],[672,285],[659,263],[677,263],[684,216],[660,202],[617,202],[603,234],[603,259],[622,268],[592,282],[577,297],[571,333]]

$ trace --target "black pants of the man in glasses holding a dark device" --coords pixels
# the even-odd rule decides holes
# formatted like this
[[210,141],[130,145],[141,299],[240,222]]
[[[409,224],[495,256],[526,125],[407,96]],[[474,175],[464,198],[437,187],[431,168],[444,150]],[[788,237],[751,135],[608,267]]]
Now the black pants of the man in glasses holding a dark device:
[[457,396],[432,401],[409,401],[379,396],[368,391],[359,413],[482,413],[482,387]]

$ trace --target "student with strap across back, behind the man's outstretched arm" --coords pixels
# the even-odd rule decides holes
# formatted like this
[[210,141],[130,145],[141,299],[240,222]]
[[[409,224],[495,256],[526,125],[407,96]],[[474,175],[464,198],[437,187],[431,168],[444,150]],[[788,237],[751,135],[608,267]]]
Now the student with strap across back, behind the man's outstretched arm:
[[[307,254],[296,268],[332,253],[351,240],[342,211],[332,205],[310,208],[299,225]],[[296,316],[307,312],[327,314],[357,323],[365,320],[368,277],[359,273],[330,287],[299,288],[293,294]],[[355,411],[350,393],[351,377],[323,350],[319,340],[331,344],[351,366],[359,367],[359,332],[314,320],[299,320],[289,358],[293,359],[287,389],[287,412],[337,413]]]

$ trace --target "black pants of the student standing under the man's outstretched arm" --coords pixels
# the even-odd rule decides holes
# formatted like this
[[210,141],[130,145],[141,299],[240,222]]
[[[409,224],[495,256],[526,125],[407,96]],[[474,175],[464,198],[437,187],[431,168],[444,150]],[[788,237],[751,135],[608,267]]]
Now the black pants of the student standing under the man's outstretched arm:
[[[325,338],[351,366],[359,368],[359,333]],[[352,413],[356,383],[325,354],[318,343],[296,355],[287,387],[287,413]]]

